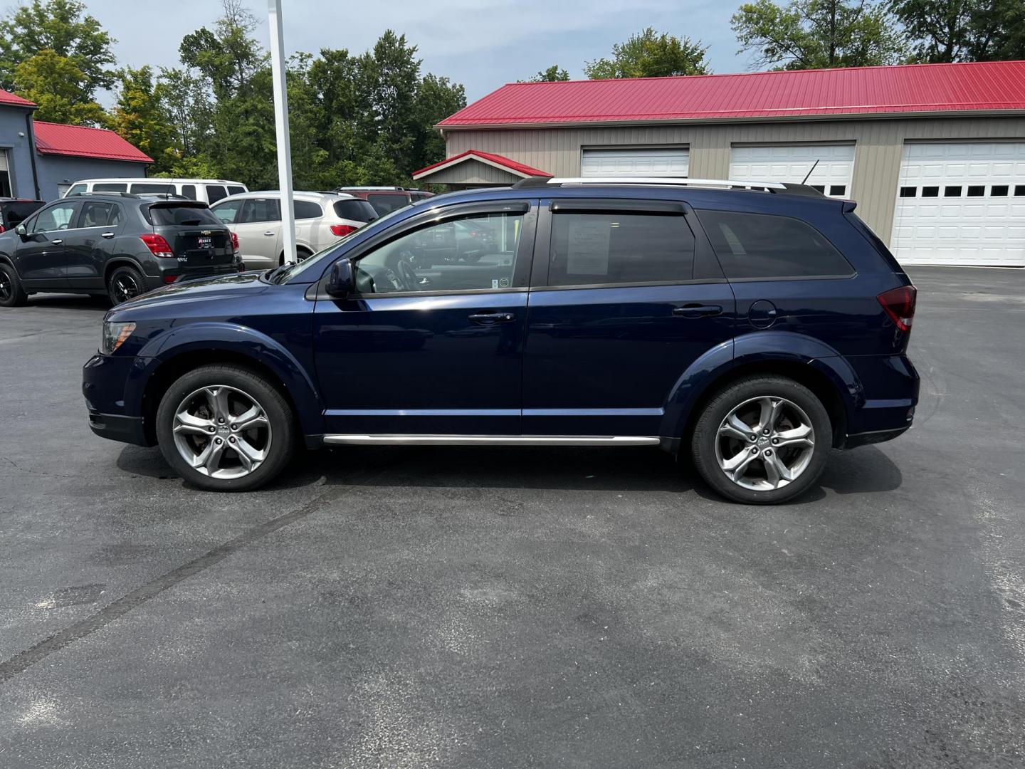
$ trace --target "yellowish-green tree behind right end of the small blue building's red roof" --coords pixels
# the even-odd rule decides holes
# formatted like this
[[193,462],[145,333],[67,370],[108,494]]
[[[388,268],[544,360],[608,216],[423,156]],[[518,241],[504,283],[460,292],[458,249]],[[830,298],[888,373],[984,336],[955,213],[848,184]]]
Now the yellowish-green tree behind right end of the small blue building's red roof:
[[108,127],[154,159],[154,172],[166,170],[173,162],[173,127],[164,104],[164,84],[153,70],[126,67],[118,73],[117,102]]

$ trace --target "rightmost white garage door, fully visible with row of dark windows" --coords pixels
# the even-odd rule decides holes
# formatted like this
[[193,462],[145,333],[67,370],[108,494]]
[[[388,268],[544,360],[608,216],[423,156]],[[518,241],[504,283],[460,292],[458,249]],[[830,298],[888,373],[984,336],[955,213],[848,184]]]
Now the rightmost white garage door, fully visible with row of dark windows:
[[1025,266],[1025,143],[904,145],[890,248],[902,265]]

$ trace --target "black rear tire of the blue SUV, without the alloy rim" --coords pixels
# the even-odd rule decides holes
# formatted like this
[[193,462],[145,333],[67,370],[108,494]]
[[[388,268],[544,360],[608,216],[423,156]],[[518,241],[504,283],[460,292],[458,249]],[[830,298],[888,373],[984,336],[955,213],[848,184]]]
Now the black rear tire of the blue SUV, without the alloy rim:
[[[715,441],[719,427],[734,408],[744,401],[765,396],[786,398],[799,406],[815,430],[815,448],[805,472],[786,486],[756,491],[738,486],[719,467]],[[705,406],[695,426],[691,454],[701,477],[716,492],[730,499],[748,504],[776,504],[799,496],[822,475],[832,448],[832,424],[825,406],[812,391],[783,376],[755,376],[729,386]]]

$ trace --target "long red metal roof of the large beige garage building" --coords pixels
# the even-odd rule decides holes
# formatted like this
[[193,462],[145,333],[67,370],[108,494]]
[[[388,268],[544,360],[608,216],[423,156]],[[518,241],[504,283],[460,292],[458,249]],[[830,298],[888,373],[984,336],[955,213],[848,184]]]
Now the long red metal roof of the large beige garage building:
[[1025,110],[1025,62],[509,83],[439,126]]

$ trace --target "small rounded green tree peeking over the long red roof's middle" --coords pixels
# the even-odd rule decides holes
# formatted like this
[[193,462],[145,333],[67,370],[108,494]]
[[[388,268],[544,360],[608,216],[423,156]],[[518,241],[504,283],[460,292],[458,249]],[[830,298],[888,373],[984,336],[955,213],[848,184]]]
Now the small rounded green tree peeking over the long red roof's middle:
[[688,37],[660,35],[649,27],[612,46],[611,58],[588,62],[583,71],[591,80],[707,75],[707,50],[700,40],[694,43]]

